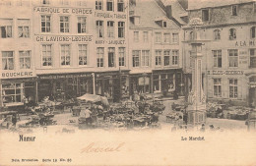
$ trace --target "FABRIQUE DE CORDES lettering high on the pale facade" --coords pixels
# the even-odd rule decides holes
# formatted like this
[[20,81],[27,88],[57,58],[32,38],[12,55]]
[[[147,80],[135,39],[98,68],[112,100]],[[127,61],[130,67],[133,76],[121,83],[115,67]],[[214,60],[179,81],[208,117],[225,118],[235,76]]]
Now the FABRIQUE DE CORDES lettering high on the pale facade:
[[75,15],[93,14],[93,10],[90,8],[34,7],[33,12],[46,13],[46,14],[75,14]]

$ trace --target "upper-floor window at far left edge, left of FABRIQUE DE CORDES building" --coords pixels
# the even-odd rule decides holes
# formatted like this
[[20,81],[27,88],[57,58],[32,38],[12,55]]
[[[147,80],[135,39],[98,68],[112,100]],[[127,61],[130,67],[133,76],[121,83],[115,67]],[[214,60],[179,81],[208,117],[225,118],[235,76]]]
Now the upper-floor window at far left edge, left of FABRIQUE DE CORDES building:
[[12,25],[13,25],[13,20],[12,19],[0,19],[0,35],[1,38],[10,38],[13,36],[13,29],[12,29]]

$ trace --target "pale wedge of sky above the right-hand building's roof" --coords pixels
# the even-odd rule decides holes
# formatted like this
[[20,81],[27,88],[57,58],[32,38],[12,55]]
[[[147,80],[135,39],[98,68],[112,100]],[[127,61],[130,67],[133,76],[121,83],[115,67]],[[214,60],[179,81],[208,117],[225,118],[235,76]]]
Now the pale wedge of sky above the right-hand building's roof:
[[188,0],[188,10],[196,10],[209,7],[213,8],[255,1],[256,0]]

